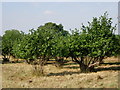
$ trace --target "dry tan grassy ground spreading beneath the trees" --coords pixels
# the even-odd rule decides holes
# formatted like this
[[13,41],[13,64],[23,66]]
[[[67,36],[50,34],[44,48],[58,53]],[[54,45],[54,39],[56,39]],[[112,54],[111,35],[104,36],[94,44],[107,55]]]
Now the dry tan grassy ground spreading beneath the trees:
[[[0,64],[1,65],[1,64]],[[118,88],[120,62],[107,58],[97,72],[80,73],[79,66],[69,62],[63,68],[44,66],[45,76],[34,76],[26,63],[2,65],[2,88]]]

